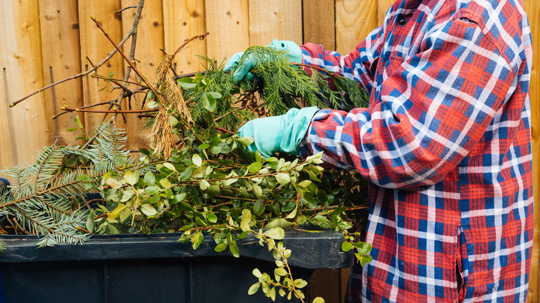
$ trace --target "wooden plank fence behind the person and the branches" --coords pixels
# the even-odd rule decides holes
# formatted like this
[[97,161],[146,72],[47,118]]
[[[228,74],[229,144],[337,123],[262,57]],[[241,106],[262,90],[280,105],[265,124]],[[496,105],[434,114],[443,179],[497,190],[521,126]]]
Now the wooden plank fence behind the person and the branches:
[[[19,98],[44,86],[78,75],[98,64],[113,50],[96,25],[95,16],[116,43],[132,27],[134,9],[114,13],[136,5],[136,0],[6,0],[0,6],[0,169],[24,165],[33,160],[35,150],[53,142],[75,143],[80,136],[67,129],[75,127],[79,116],[91,129],[102,115],[61,113],[60,107],[82,107],[118,98],[105,81],[96,77],[78,77],[46,89],[10,108]],[[138,24],[136,64],[152,78],[159,60],[172,53],[184,39],[210,33],[205,42],[188,48],[177,56],[177,73],[201,71],[197,55],[220,61],[251,45],[269,44],[273,38],[297,44],[314,42],[325,49],[348,53],[381,23],[393,0],[147,0]],[[539,163],[539,119],[537,102],[538,54],[540,50],[540,4],[523,0],[528,12],[534,42],[531,100],[533,124],[533,163]],[[129,50],[129,43],[124,50]],[[115,55],[98,69],[98,74],[123,78],[121,57]],[[133,74],[133,73],[132,73]],[[133,75],[134,77],[134,75]],[[134,80],[136,80],[134,78]],[[132,100],[141,104],[142,95]],[[118,124],[128,131],[129,147],[147,144],[141,121],[133,116],[119,116]],[[81,141],[79,141],[81,143]],[[540,184],[534,174],[534,184]],[[534,192],[534,199],[538,198]],[[537,200],[538,201],[538,200]],[[535,211],[538,213],[538,204]],[[535,226],[539,227],[539,216]],[[529,302],[539,298],[539,237],[534,235]],[[341,302],[346,286],[346,270],[325,270],[312,277],[310,295],[324,295],[327,302]],[[323,287],[324,286],[324,287]]]

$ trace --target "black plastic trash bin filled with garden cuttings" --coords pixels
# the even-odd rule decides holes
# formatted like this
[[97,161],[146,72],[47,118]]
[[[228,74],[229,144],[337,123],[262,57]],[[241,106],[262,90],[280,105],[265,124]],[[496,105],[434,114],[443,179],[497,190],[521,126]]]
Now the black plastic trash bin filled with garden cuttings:
[[[180,234],[93,236],[82,245],[36,248],[35,236],[3,236],[1,280],[6,302],[271,302],[253,268],[273,275],[271,252],[253,237],[237,241],[240,258],[215,252],[206,236],[197,250],[177,241]],[[337,232],[286,230],[295,278],[318,268],[346,268]],[[277,297],[276,302],[291,302]],[[294,302],[294,301],[293,301]]]

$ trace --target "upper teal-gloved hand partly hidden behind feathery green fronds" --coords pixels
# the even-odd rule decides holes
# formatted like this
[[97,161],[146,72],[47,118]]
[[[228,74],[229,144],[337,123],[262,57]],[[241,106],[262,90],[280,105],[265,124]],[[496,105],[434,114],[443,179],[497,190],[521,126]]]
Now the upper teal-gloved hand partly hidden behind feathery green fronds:
[[[298,46],[298,44],[294,42],[273,39],[272,43],[267,46],[271,48],[276,48],[278,50],[287,50],[287,54],[285,54],[285,57],[287,57],[290,62],[302,63],[302,50],[300,49],[300,46]],[[235,53],[234,55],[232,55],[231,59],[228,59],[223,70],[234,71],[234,80],[236,82],[239,82],[246,76],[246,80],[251,82],[253,80],[253,74],[251,74],[249,71],[253,69],[255,60],[253,59],[253,57],[250,56],[246,59],[246,61],[244,61],[244,64],[240,66],[240,68],[237,68],[238,63],[240,62],[240,58],[242,58],[242,55],[244,55],[244,52]]]

